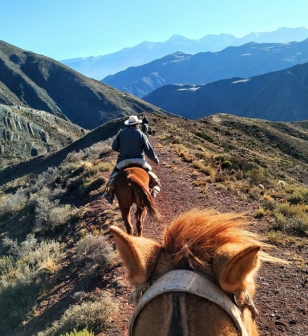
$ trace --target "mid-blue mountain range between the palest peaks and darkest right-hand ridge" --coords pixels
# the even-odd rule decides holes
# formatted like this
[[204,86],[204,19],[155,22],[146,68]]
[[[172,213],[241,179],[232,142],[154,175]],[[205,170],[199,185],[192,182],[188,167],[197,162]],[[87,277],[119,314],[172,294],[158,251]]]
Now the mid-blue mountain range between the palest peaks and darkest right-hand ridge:
[[220,52],[174,53],[103,79],[108,85],[143,97],[167,84],[201,84],[252,77],[308,61],[308,39],[287,44],[248,43]]

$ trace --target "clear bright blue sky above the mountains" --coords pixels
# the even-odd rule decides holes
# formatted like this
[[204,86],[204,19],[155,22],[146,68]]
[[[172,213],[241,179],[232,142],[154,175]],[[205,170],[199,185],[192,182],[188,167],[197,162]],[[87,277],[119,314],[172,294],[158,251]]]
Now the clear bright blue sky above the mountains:
[[0,39],[57,60],[105,55],[144,40],[308,28],[308,1],[0,0]]

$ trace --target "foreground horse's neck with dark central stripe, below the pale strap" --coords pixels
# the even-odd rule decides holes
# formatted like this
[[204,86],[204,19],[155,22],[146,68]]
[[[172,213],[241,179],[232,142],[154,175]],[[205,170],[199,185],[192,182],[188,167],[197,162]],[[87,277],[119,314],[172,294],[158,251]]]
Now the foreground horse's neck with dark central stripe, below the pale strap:
[[132,336],[238,336],[233,320],[219,306],[198,296],[164,293],[140,311]]

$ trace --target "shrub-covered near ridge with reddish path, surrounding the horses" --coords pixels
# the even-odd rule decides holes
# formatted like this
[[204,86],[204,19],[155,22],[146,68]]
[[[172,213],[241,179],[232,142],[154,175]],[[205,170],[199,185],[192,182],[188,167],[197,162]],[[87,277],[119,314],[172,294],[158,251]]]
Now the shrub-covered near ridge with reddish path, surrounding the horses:
[[[291,262],[260,272],[260,334],[304,336],[308,123],[224,114],[197,121],[148,117],[161,161],[153,170],[162,182],[156,203],[163,219],[146,218],[144,235],[160,239],[164,226],[192,207],[245,212],[249,228]],[[111,141],[123,121],[0,171],[0,307],[7,307],[0,311],[1,335],[125,334],[131,287],[108,229],[123,224],[117,202],[110,206],[102,196],[117,158]]]

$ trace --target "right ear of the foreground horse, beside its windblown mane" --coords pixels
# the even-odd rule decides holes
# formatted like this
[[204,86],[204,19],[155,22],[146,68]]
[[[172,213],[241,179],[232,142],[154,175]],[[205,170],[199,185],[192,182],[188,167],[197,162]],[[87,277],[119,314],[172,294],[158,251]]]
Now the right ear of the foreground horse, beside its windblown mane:
[[217,251],[219,257],[214,264],[214,272],[223,290],[238,293],[249,287],[254,291],[254,275],[260,267],[260,249],[257,244],[245,248],[226,244]]

